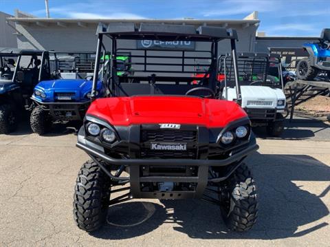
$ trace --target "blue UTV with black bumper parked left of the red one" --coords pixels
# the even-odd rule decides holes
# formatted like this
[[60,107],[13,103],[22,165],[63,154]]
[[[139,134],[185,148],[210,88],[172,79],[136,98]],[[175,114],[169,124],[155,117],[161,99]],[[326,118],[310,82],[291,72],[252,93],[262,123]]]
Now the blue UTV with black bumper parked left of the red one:
[[[82,120],[90,104],[95,52],[50,52],[44,69],[52,80],[43,80],[34,88],[30,125],[43,135],[52,122]],[[105,89],[98,82],[97,94]]]

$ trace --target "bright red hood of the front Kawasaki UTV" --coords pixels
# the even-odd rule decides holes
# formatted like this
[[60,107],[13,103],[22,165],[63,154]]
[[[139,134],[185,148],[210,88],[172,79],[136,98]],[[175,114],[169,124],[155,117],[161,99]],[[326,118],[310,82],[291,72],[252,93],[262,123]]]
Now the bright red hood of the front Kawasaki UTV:
[[188,96],[100,98],[91,103],[87,114],[116,126],[177,123],[208,128],[224,127],[247,116],[232,101]]

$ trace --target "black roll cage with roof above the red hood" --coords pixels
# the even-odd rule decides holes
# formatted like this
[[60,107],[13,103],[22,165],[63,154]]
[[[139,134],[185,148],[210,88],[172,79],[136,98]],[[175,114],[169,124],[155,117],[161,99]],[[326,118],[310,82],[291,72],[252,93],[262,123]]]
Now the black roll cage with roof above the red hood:
[[[104,36],[111,39],[111,63],[109,69],[105,69],[103,83],[109,88],[109,96],[131,96],[134,94],[184,94],[189,89],[207,86],[214,92],[217,91],[217,68],[218,68],[218,43],[223,39],[229,39],[233,58],[234,74],[236,74],[236,91],[241,100],[239,88],[238,68],[236,62],[237,34],[235,30],[225,28],[193,25],[164,25],[141,23],[137,28],[134,23],[100,23],[97,30],[98,46],[96,50],[96,62],[94,67],[94,80],[91,98],[96,97],[96,85],[98,71],[100,69],[100,57],[106,52]],[[210,50],[171,50],[144,48],[118,47],[122,41],[159,41],[159,42],[184,42],[195,41],[210,43]],[[120,42],[118,42],[120,41]],[[118,76],[118,54],[131,54],[131,68],[133,74]],[[210,61],[203,64],[206,72],[201,76],[198,73],[198,61]],[[193,81],[198,80],[197,85]]]

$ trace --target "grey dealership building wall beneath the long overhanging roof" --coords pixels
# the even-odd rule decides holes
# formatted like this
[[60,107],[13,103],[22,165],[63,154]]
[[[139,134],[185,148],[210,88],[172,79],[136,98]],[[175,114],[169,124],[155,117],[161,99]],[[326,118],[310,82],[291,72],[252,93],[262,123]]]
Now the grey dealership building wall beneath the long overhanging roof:
[[[32,48],[39,50],[57,51],[94,51],[96,50],[96,26],[97,23],[89,23],[85,28],[76,23],[65,23],[66,27],[54,23],[47,26],[39,26],[34,23],[29,25],[16,24],[17,30],[23,35],[17,36],[19,48]],[[248,28],[240,26],[228,26],[238,32],[239,42],[237,50],[241,52],[254,51],[255,34],[257,26]],[[203,45],[197,44],[197,49],[203,50]],[[230,52],[230,42],[221,41],[219,53]]]

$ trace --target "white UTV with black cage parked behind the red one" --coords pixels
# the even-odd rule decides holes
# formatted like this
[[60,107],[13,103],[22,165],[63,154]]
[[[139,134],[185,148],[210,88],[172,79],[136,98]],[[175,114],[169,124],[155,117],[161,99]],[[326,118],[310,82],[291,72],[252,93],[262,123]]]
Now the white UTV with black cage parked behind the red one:
[[[263,53],[240,53],[238,56],[241,107],[248,114],[252,126],[265,126],[270,136],[281,136],[286,100],[280,56]],[[219,63],[219,70],[224,75],[221,81],[222,98],[235,100],[236,84],[231,54],[220,56]]]

